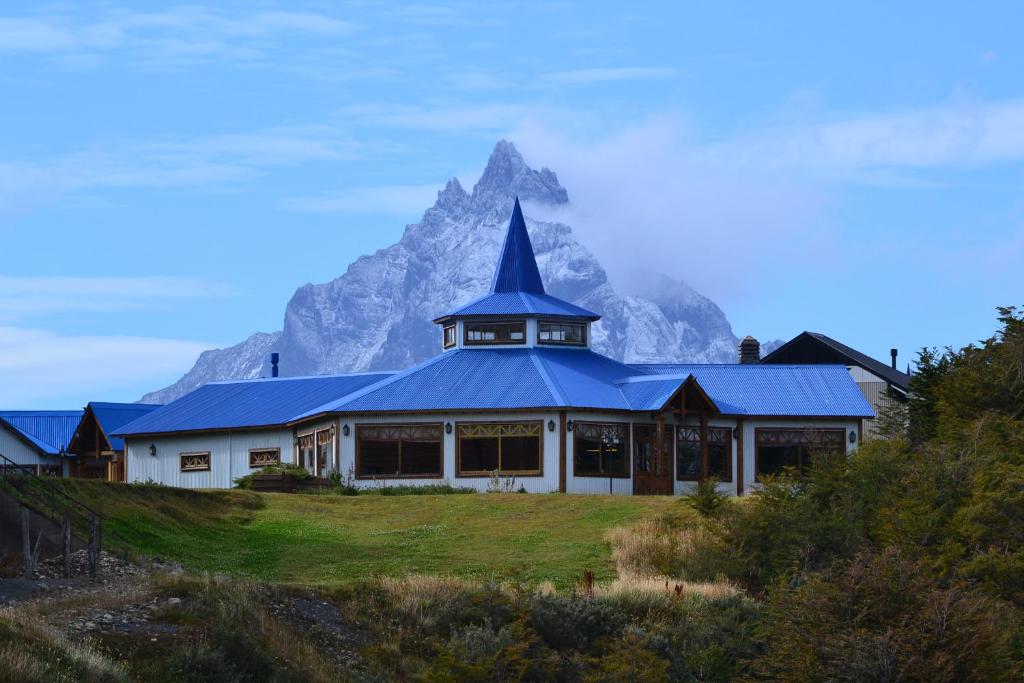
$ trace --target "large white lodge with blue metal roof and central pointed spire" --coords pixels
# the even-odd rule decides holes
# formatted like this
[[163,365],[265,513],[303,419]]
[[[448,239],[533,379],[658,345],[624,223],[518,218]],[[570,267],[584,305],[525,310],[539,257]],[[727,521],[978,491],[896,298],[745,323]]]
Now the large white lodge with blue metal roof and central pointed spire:
[[855,447],[873,416],[843,365],[629,366],[591,349],[598,319],[545,292],[516,201],[489,293],[434,321],[437,356],[208,384],[117,431],[127,478],[226,487],[292,462],[361,486],[742,494]]

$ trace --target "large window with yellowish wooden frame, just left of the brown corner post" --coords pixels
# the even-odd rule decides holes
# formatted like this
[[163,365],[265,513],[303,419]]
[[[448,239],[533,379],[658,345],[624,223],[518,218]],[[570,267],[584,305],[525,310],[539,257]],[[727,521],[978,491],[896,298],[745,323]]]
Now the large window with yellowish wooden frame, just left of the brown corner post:
[[541,422],[459,425],[460,476],[541,474]]

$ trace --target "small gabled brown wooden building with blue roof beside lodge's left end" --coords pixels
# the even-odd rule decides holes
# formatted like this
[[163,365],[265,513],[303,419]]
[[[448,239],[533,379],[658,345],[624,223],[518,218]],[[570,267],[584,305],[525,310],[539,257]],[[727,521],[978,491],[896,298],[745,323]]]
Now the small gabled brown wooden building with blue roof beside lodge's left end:
[[68,445],[68,451],[75,454],[71,476],[124,481],[125,442],[111,434],[158,408],[160,405],[153,403],[98,401],[86,405]]

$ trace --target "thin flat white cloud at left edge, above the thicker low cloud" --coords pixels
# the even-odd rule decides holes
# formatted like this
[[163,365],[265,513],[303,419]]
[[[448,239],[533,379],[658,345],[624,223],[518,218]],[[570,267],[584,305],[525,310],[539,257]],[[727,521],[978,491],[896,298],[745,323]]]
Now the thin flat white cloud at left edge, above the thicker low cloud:
[[0,321],[69,311],[159,308],[171,302],[234,294],[221,283],[189,278],[61,278],[0,275]]

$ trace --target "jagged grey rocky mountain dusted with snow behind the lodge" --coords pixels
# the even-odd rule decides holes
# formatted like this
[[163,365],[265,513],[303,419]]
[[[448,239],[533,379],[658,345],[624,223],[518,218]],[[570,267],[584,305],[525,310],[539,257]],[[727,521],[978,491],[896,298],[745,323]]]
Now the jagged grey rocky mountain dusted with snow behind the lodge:
[[440,330],[431,321],[487,291],[516,195],[548,292],[602,315],[592,330],[595,350],[626,362],[735,361],[737,339],[710,299],[656,273],[643,291],[623,295],[571,227],[530,219],[530,206],[564,205],[568,195],[554,172],[531,169],[501,140],[472,193],[449,180],[396,244],[359,257],[330,283],[300,287],[282,332],[204,351],[184,377],[142,400],[269,375],[271,350],[281,353],[283,376],[398,370],[435,355]]

